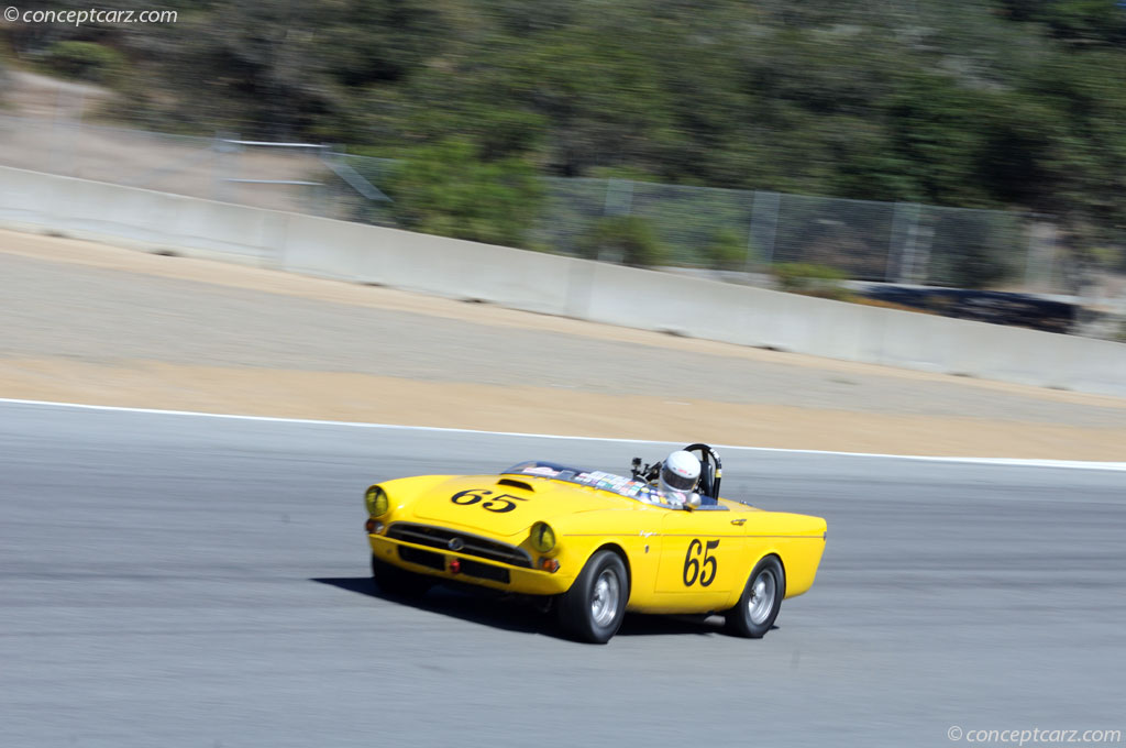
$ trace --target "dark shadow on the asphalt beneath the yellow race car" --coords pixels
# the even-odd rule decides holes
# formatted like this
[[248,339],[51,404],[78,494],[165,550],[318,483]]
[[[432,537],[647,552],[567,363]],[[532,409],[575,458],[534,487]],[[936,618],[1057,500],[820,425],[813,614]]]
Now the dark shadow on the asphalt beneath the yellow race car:
[[[494,629],[543,634],[570,641],[558,630],[554,616],[548,612],[538,609],[526,599],[483,593],[475,587],[440,585],[422,597],[406,599],[383,591],[370,577],[331,577],[310,579],[310,581]],[[723,618],[631,613],[626,615],[617,633],[618,636],[672,634],[723,635]]]

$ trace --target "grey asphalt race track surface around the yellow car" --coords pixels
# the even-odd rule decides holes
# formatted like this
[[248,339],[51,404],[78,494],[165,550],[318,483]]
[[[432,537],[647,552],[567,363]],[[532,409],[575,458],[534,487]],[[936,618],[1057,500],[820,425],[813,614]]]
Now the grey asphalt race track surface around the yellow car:
[[723,451],[726,496],[829,520],[817,582],[760,641],[632,616],[578,644],[526,607],[367,579],[373,480],[665,449],[0,403],[0,743],[1126,731],[1126,472]]

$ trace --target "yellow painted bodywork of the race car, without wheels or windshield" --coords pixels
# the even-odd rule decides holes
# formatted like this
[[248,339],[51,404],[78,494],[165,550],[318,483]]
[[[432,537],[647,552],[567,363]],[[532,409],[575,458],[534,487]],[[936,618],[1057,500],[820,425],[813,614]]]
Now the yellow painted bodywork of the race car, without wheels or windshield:
[[[726,499],[720,499],[724,509],[671,509],[527,474],[422,475],[379,488],[390,508],[372,517],[374,532],[368,533],[379,561],[511,593],[558,595],[596,551],[609,547],[626,562],[628,609],[644,613],[730,608],[754,566],[771,554],[785,571],[785,596],[801,595],[813,585],[825,546],[825,520],[820,517],[763,511]],[[546,553],[533,544],[536,523],[554,531],[555,546]],[[420,534],[430,532],[434,537]],[[468,546],[454,550],[458,541],[454,547],[445,542],[454,535],[468,546],[516,549],[513,555],[524,561],[498,561]],[[459,573],[450,570],[454,559]],[[549,571],[554,562],[557,570]],[[482,571],[480,564],[494,569]],[[466,573],[466,566],[475,572]],[[486,578],[503,577],[503,570],[508,581]]]

